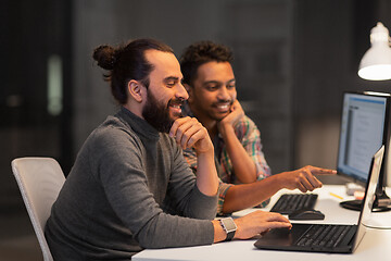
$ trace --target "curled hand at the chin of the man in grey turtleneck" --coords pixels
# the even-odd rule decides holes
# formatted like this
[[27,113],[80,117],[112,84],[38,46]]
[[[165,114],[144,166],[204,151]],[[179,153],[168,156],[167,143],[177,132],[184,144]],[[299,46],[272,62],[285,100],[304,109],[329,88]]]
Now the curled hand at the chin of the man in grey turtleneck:
[[197,154],[213,151],[206,128],[195,117],[177,119],[169,130],[169,136],[174,137],[182,149],[193,147]]

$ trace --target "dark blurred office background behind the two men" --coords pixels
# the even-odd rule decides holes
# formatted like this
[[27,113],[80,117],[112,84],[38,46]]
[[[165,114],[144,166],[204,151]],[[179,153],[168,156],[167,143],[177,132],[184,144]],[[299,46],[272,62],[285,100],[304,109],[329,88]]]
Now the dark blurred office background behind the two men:
[[[193,41],[228,45],[238,98],[274,173],[335,167],[342,91],[391,91],[391,82],[357,76],[370,28],[391,28],[390,13],[389,0],[2,0],[0,220],[26,214],[12,159],[52,157],[66,174],[88,134],[117,110],[93,48],[139,37],[177,55]],[[48,98],[53,57],[62,91]]]

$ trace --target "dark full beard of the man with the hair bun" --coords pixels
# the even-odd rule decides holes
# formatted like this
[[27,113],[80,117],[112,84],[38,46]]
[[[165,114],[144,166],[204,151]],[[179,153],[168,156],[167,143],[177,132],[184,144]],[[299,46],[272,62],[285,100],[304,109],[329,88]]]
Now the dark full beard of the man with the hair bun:
[[[173,102],[182,103],[179,99],[171,99],[167,105],[164,105],[157,101],[157,99],[148,90],[147,103],[142,109],[143,119],[157,132],[168,133],[175,120],[169,116],[168,105]],[[180,115],[178,115],[180,116]]]

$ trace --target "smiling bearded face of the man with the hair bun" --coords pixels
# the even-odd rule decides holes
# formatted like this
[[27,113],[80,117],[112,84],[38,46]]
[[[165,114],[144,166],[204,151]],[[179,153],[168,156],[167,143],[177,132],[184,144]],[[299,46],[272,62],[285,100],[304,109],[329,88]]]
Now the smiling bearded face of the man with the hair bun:
[[143,119],[159,132],[168,133],[173,122],[181,115],[181,104],[189,98],[181,85],[182,75],[173,53],[146,51],[146,59],[154,69],[149,75]]

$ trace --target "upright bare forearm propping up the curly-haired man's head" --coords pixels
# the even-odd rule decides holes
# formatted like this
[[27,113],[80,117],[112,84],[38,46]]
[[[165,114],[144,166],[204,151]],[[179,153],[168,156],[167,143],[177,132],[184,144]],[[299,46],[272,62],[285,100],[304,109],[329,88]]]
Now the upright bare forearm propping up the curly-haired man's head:
[[236,177],[240,183],[253,183],[256,181],[256,167],[253,159],[248,154],[243,145],[235,134],[232,127],[225,127],[222,132],[229,159]]

